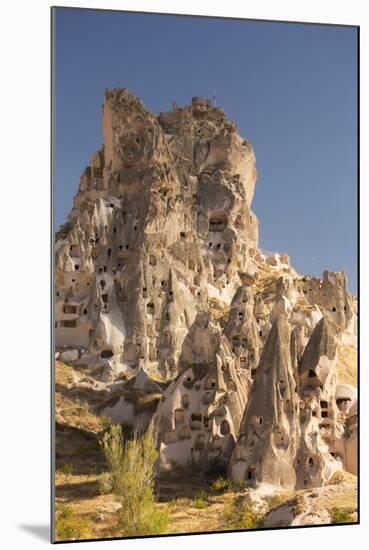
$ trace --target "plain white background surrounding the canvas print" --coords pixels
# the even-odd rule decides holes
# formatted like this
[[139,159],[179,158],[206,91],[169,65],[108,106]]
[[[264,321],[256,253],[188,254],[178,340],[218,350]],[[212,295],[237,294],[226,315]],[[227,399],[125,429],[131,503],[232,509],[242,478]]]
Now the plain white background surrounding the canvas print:
[[[360,526],[88,543],[176,549],[363,547],[368,532],[368,27],[365,0],[75,1],[58,5],[348,23],[361,26],[361,521]],[[50,389],[50,6],[3,3],[0,15],[1,478],[0,544],[48,544]],[[76,82],[78,86],[78,82]],[[339,114],[337,115],[339,116]],[[78,174],[77,174],[78,176]],[[311,213],[312,218],[314,213]],[[333,220],[332,223],[339,223]],[[365,490],[366,489],[366,490]],[[86,543],[84,543],[86,544]],[[366,544],[365,544],[366,545]],[[75,546],[73,544],[73,546]],[[78,548],[82,546],[79,545]]]

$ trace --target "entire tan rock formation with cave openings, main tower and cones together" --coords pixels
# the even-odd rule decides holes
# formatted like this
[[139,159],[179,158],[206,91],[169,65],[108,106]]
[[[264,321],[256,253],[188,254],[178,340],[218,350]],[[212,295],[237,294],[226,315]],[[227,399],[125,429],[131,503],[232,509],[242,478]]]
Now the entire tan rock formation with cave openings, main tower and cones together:
[[355,300],[343,272],[301,276],[258,249],[250,143],[208,100],[157,116],[127,89],[105,92],[103,135],[56,236],[58,355],[121,392],[118,421],[127,384],[166,383],[155,386],[164,469],[218,461],[286,485],[354,469],[355,398],[335,344],[356,345]]

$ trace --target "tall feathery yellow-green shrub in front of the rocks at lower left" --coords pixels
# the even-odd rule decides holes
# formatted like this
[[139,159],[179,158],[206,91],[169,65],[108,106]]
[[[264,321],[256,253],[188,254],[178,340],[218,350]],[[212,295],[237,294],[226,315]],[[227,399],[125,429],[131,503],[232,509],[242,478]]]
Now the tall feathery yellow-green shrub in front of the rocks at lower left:
[[[110,485],[122,508],[119,527],[126,535],[149,535],[166,531],[168,516],[158,510],[154,499],[154,466],[158,457],[153,427],[133,439],[123,437],[119,425],[111,426],[102,440],[109,466]],[[107,480],[105,478],[105,485]]]

